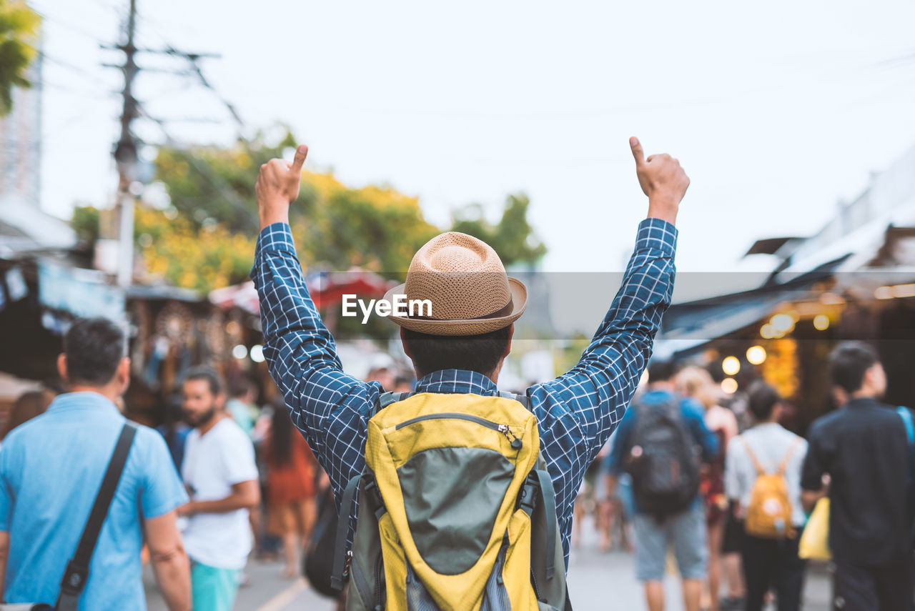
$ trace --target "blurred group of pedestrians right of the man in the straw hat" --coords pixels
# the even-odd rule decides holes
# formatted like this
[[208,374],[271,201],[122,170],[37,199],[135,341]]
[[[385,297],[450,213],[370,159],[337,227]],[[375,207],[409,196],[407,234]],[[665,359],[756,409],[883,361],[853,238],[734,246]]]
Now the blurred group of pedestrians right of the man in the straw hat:
[[[823,370],[838,409],[804,438],[770,384],[727,394],[705,369],[653,361],[588,471],[575,541],[590,515],[603,551],[634,552],[650,611],[665,573],[687,611],[800,609],[811,559],[831,561],[834,608],[910,610],[910,412],[880,402],[886,374],[865,343],[840,344]],[[663,477],[691,462],[694,477]]]

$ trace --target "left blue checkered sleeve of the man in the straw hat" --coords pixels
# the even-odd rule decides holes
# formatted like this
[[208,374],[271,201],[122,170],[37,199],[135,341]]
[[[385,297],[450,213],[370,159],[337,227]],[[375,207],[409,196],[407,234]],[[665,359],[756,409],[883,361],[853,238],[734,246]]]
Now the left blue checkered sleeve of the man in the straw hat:
[[274,223],[261,231],[251,277],[260,300],[270,374],[339,498],[350,477],[365,465],[367,422],[380,387],[343,372],[334,338],[308,295],[287,224]]

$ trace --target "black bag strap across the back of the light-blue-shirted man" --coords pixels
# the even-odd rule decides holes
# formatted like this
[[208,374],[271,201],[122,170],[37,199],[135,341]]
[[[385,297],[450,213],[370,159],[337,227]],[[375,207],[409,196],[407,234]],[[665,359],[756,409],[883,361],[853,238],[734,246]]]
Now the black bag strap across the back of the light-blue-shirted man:
[[131,423],[124,423],[121,436],[114,445],[111,460],[108,461],[108,470],[105,471],[105,477],[102,478],[102,486],[95,495],[95,503],[92,505],[89,520],[86,520],[86,526],[82,529],[80,544],[77,545],[76,553],[73,554],[73,558],[67,564],[67,570],[63,573],[60,595],[57,605],[54,606],[55,611],[76,611],[79,606],[80,594],[89,579],[92,552],[95,551],[95,543],[99,539],[99,533],[102,532],[102,524],[108,516],[108,508],[111,507],[114,492],[121,480],[121,473],[124,471],[135,435],[136,427]]

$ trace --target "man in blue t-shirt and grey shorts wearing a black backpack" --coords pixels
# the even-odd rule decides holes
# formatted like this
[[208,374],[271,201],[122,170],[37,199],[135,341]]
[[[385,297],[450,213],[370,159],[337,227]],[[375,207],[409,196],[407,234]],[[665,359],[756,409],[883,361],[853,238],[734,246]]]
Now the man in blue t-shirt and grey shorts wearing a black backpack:
[[[705,412],[702,405],[673,392],[673,362],[652,359],[648,366],[648,389],[627,410],[619,422],[613,449],[607,459],[609,472],[608,488],[615,488],[619,474],[627,469],[630,460],[643,452],[634,445],[636,423],[640,413],[649,409],[663,409],[673,402],[679,403],[677,414],[692,442],[702,447],[702,456],[708,461],[718,455],[718,440],[705,426]],[[685,470],[684,466],[684,470]],[[637,476],[633,474],[633,485],[638,488]],[[696,488],[697,486],[696,481]],[[698,490],[696,490],[698,492]],[[686,509],[658,517],[640,507],[639,496],[635,499],[636,577],[645,584],[645,598],[649,611],[664,608],[663,577],[667,549],[673,546],[677,566],[683,577],[684,602],[686,611],[699,611],[702,583],[707,571],[707,544],[705,541],[705,506],[698,494],[686,504]]]

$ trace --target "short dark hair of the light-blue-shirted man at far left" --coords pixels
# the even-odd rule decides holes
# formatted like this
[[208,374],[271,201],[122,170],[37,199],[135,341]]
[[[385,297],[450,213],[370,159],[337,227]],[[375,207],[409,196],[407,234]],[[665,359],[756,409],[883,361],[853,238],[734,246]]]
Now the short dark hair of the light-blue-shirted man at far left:
[[108,318],[79,318],[63,337],[71,383],[104,386],[127,355],[124,331]]

